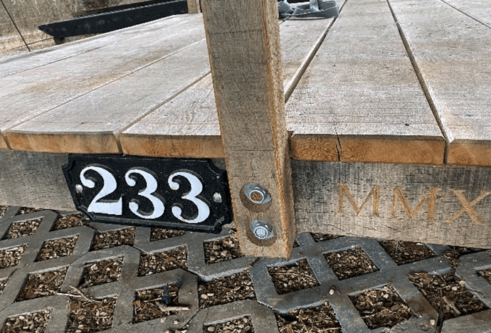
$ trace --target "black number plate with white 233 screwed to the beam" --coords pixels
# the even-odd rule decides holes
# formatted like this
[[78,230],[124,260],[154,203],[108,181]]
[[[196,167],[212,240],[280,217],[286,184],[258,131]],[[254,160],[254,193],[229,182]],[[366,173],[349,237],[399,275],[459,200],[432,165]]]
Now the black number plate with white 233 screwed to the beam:
[[209,160],[70,155],[63,173],[94,222],[206,233],[231,222],[226,172]]

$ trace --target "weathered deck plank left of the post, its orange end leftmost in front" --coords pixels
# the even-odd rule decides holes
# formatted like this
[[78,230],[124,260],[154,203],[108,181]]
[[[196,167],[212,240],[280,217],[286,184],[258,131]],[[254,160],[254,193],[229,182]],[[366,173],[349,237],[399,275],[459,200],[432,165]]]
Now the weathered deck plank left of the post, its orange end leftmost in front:
[[[186,66],[183,58],[189,61]],[[208,73],[206,42],[199,41],[8,129],[9,147],[35,152],[121,152],[117,136],[122,130]]]

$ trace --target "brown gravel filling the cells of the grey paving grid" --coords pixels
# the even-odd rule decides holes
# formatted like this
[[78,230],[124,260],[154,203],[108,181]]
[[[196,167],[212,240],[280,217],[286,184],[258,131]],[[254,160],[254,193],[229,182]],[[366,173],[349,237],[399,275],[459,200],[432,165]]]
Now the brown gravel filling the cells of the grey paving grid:
[[[0,216],[6,207],[0,206]],[[23,208],[21,213],[35,211]],[[38,219],[12,223],[4,238],[19,238],[30,235],[39,225]],[[60,217],[53,225],[53,229],[72,228],[88,225],[88,220],[80,213]],[[153,228],[151,240],[161,240],[184,235],[183,231],[167,231]],[[119,231],[95,233],[90,250],[113,248],[120,245],[133,245],[135,228],[123,228]],[[337,238],[334,235],[314,234],[316,241]],[[46,240],[38,253],[37,260],[51,260],[53,258],[70,255],[75,248],[78,236]],[[421,243],[400,242],[384,240],[380,245],[394,259],[398,265],[413,263],[417,260],[435,256],[426,245]],[[16,246],[0,250],[0,268],[16,265],[28,245]],[[460,255],[472,253],[476,249],[453,248],[445,256],[453,263],[453,271],[445,275],[429,275],[428,273],[412,273],[408,279],[428,299],[428,302],[440,313],[440,323],[445,319],[460,317],[464,314],[485,310],[485,305],[465,289],[465,281],[455,276],[455,268],[459,264]],[[231,229],[228,236],[204,243],[205,260],[207,264],[221,263],[234,258],[240,258],[238,240],[235,229]],[[325,253],[325,259],[331,266],[339,280],[358,275],[364,275],[379,270],[368,258],[361,248],[352,248],[335,253]],[[83,293],[84,287],[102,285],[120,279],[122,270],[122,257],[110,260],[100,260],[85,265],[80,285],[73,287],[70,299],[70,318],[66,332],[83,333],[99,332],[112,324],[113,310],[116,297],[96,300]],[[143,253],[139,262],[139,275],[150,275],[176,268],[187,268],[187,249],[181,246],[164,252]],[[53,295],[60,291],[66,268],[52,270],[44,273],[29,275],[24,283],[18,300],[30,300],[46,295]],[[280,295],[289,292],[307,289],[319,285],[312,273],[306,259],[296,263],[268,268],[275,289]],[[481,270],[478,274],[491,283],[491,269]],[[0,292],[8,279],[0,281]],[[199,307],[206,308],[214,305],[223,305],[238,300],[256,300],[252,281],[247,270],[228,277],[220,277],[209,282],[201,281],[199,288]],[[179,285],[169,285],[149,290],[140,290],[135,293],[133,322],[143,322],[150,319],[165,318],[169,314],[176,314],[179,310]],[[366,325],[371,329],[380,327],[393,327],[399,322],[412,317],[414,314],[401,300],[396,291],[386,285],[373,290],[366,290],[358,295],[351,296],[354,307],[361,314]],[[165,302],[164,302],[165,300]],[[167,307],[173,310],[167,310]],[[48,310],[30,314],[9,317],[1,327],[4,332],[44,332],[50,312]],[[278,328],[281,333],[292,332],[342,332],[329,302],[317,307],[295,310],[289,314],[277,314]],[[186,329],[176,330],[186,332]],[[204,327],[204,332],[253,332],[249,317],[233,319]]]

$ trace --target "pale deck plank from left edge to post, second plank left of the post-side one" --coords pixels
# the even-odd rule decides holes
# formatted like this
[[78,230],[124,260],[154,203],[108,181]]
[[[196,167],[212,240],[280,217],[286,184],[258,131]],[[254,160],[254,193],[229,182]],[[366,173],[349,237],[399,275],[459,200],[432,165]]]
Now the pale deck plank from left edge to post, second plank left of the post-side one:
[[[162,28],[167,31],[164,36]],[[166,20],[144,36],[127,36],[128,32],[120,41],[110,37],[105,48],[0,78],[0,132],[204,40],[200,16]]]

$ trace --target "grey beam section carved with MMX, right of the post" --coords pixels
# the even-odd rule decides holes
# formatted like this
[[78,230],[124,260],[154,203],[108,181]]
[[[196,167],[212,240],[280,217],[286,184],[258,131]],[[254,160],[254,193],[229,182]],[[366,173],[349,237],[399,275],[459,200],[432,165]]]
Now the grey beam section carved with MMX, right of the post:
[[490,171],[294,161],[297,231],[490,248]]

